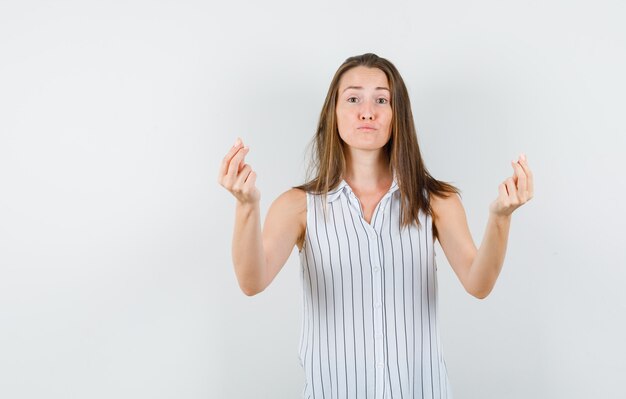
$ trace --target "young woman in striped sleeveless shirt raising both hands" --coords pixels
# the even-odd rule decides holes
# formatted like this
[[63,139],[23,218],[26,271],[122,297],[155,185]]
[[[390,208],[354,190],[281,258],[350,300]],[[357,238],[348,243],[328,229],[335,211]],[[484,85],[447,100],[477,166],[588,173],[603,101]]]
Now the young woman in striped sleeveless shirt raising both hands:
[[459,190],[424,166],[407,89],[388,60],[370,53],[339,67],[314,143],[312,179],[273,202],[262,231],[248,147],[237,139],[222,161],[219,183],[237,199],[232,257],[242,291],[263,291],[298,247],[303,397],[451,398],[434,240],[465,290],[485,298],[511,214],[533,196],[526,158],[511,162],[477,249]]

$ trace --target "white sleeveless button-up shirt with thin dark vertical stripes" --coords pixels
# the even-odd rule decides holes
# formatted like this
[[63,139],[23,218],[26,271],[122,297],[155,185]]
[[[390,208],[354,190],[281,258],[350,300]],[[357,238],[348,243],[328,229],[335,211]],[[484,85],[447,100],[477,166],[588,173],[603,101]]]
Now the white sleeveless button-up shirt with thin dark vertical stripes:
[[371,224],[345,181],[325,203],[306,197],[303,398],[452,398],[437,327],[431,217],[420,211],[420,227],[401,228],[395,179]]

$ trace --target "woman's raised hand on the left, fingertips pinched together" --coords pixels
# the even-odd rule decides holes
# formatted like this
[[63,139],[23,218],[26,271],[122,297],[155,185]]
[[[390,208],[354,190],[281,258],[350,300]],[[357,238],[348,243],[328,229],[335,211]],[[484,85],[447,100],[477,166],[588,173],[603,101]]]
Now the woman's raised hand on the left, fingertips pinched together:
[[244,162],[249,151],[250,148],[245,147],[238,138],[222,160],[217,179],[242,205],[257,203],[261,198],[261,193],[255,186],[256,173]]

